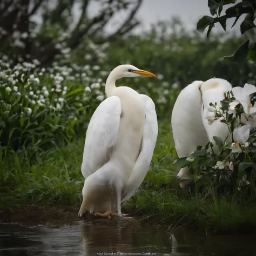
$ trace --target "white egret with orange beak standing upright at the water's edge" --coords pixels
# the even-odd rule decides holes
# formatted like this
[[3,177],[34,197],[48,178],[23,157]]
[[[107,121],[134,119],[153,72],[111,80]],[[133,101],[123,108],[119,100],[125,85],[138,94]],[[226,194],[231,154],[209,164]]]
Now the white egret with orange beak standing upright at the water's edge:
[[79,216],[86,211],[120,215],[121,203],[130,199],[149,170],[158,135],[154,103],[115,84],[122,77],[138,76],[156,77],[132,65],[119,65],[106,80],[107,98],[93,113],[86,132]]

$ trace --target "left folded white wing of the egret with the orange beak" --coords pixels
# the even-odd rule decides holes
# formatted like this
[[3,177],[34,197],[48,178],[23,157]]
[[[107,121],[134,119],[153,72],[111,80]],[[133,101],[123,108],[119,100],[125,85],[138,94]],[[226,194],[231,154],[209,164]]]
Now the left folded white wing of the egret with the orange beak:
[[116,143],[121,116],[121,100],[117,96],[106,98],[93,113],[86,131],[82,174],[86,179],[110,158]]

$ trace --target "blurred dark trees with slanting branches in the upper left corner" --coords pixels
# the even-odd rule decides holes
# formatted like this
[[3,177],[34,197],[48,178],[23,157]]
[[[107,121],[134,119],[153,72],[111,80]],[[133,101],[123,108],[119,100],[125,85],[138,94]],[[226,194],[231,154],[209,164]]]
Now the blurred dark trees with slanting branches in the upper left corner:
[[[143,0],[0,0],[0,52],[18,60],[38,59],[49,64],[66,48],[75,50],[86,38],[111,42],[139,24],[135,15]],[[90,4],[101,8],[91,17]],[[76,10],[74,12],[74,10]],[[116,31],[104,29],[114,14],[126,11]]]

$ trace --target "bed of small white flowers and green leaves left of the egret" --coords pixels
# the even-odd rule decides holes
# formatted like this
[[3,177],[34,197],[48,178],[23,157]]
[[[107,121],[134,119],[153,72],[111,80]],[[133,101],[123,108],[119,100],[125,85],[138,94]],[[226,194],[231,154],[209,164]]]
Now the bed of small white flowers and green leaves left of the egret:
[[[12,66],[0,60],[0,156],[49,149],[85,134],[91,112],[104,99],[103,79],[86,65],[38,68],[38,61]],[[4,60],[5,59],[5,60]]]

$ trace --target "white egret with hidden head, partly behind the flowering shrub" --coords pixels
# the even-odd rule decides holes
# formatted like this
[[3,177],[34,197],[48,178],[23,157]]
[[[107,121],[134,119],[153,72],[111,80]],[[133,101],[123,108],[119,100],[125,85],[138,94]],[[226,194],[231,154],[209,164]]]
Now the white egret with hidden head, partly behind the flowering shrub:
[[[214,150],[218,151],[213,136],[223,140],[228,136],[228,127],[220,120],[209,124],[207,117],[209,103],[217,103],[224,99],[224,92],[231,91],[232,85],[227,80],[211,78],[206,82],[194,81],[181,90],[172,111],[172,134],[178,157],[186,157],[196,150],[198,145],[204,146],[209,141]],[[231,139],[231,138],[230,138]],[[177,177],[180,186],[185,187],[190,181],[181,176],[190,176],[188,167],[181,168]]]

